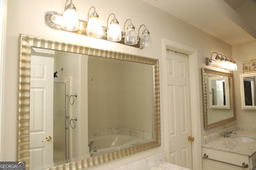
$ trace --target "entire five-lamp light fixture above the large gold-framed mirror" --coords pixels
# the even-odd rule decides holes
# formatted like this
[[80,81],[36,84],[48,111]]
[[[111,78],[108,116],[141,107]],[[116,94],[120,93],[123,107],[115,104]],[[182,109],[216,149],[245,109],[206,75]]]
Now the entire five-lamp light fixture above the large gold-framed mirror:
[[[146,25],[140,25],[137,35],[132,21],[127,19],[124,23],[124,30],[122,32],[119,22],[116,19],[116,15],[111,13],[107,18],[107,27],[104,27],[100,24],[99,16],[96,13],[94,6],[91,6],[88,10],[87,21],[82,21],[78,19],[76,7],[72,3],[72,0],[70,0],[70,4],[68,4],[68,1],[69,0],[66,0],[64,8],[65,12],[63,15],[54,11],[45,13],[44,20],[48,27],[55,30],[72,31],[81,35],[122,43],[140,49],[150,49],[152,47],[150,33]],[[91,9],[93,9],[94,12],[90,15]],[[113,19],[110,21],[110,25],[108,25],[110,16],[113,16]],[[128,26],[125,30],[126,23],[128,23]],[[144,27],[144,30],[140,37],[141,27]]]

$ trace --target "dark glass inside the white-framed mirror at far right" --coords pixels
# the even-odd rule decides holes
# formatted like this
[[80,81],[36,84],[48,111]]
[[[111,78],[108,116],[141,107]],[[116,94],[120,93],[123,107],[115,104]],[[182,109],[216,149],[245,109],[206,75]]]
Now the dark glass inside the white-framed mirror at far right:
[[255,106],[255,80],[253,78],[244,78],[244,100],[246,106]]

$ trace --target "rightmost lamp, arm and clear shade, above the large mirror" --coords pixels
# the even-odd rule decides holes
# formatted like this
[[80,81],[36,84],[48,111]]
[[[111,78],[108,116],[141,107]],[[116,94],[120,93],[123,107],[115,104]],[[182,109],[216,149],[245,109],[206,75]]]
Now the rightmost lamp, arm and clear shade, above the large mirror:
[[[140,27],[144,26],[145,29],[142,31],[142,36],[140,38]],[[149,31],[146,27],[146,25],[142,24],[140,25],[138,29],[138,39],[140,38],[140,49],[150,49],[152,47],[152,41],[149,34]]]

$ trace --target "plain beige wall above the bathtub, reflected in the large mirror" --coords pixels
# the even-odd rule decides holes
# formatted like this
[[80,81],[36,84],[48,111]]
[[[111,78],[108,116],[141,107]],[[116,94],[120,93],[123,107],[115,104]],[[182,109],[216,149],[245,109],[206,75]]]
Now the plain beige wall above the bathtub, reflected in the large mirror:
[[152,132],[152,65],[90,56],[88,76],[90,131],[121,126]]

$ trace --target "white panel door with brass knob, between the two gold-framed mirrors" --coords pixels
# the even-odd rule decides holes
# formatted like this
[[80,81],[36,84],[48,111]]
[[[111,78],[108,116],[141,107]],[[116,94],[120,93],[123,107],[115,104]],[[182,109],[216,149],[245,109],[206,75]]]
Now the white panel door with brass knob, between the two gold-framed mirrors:
[[[166,51],[169,162],[192,169],[188,56]],[[200,120],[198,120],[200,123]]]

